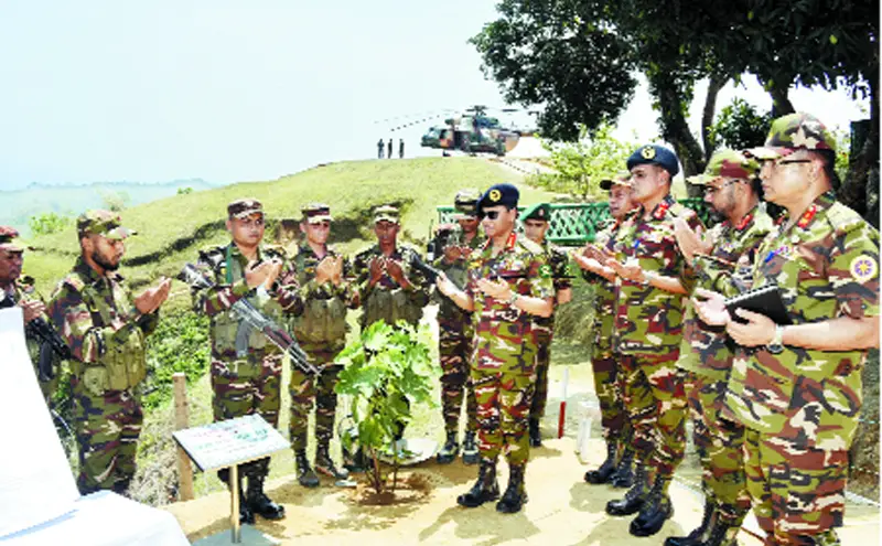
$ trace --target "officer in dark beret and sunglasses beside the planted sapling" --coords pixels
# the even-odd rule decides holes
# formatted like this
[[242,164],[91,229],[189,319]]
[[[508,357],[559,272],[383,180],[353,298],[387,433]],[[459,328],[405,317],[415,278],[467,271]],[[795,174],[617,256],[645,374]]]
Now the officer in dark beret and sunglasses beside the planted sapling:
[[439,277],[438,289],[466,311],[474,312],[472,383],[477,398],[481,467],[472,489],[456,499],[475,507],[499,496],[496,459],[508,460],[508,486],[496,503],[503,513],[519,512],[527,502],[524,472],[529,459],[527,421],[538,340],[534,317],[553,310],[551,269],[542,248],[515,233],[518,191],[496,184],[477,203],[487,243],[473,254],[469,283],[458,289]]

